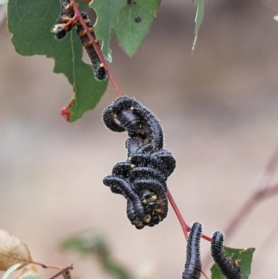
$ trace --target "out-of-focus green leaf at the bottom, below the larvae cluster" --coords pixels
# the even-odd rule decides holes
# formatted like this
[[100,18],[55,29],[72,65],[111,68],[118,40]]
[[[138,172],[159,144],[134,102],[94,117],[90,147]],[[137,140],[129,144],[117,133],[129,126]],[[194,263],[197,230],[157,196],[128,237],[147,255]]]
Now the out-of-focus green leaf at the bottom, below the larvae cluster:
[[61,243],[63,250],[74,250],[81,255],[91,255],[97,258],[101,269],[117,279],[131,279],[128,269],[117,263],[112,257],[109,245],[102,234],[88,231],[76,234]]

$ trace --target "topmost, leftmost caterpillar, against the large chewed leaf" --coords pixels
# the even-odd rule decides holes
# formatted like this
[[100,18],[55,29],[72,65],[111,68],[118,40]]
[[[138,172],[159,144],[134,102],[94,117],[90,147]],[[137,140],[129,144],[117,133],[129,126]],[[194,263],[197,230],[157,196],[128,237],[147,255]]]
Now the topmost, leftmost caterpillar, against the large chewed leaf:
[[61,40],[67,35],[68,31],[71,31],[76,22],[72,20],[74,17],[73,4],[68,0],[60,1],[60,15],[56,19],[52,32],[56,39]]

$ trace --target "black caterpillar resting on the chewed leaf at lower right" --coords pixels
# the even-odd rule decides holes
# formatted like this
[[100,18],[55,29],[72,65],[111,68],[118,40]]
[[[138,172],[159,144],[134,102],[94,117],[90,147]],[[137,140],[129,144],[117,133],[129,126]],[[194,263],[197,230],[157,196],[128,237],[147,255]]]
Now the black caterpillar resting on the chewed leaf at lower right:
[[240,268],[226,255],[223,244],[224,234],[214,232],[211,239],[211,257],[227,279],[240,279]]

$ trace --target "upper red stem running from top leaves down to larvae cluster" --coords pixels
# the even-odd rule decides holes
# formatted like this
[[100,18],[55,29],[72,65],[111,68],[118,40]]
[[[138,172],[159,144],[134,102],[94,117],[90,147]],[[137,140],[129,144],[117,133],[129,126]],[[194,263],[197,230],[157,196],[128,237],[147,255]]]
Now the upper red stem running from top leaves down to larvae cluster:
[[[101,61],[101,63],[104,64],[104,67],[106,68],[106,71],[108,73],[108,77],[111,80],[111,82],[113,83],[113,86],[115,87],[115,90],[117,92],[117,95],[119,97],[122,97],[122,93],[120,91],[119,86],[117,86],[117,82],[115,81],[113,74],[111,73],[111,71],[108,68],[108,65],[105,61],[104,55],[102,54],[101,50],[99,49],[97,43],[95,42],[95,39],[92,37],[92,34],[90,33],[87,24],[85,24],[84,19],[81,17],[81,14],[79,12],[79,8],[77,7],[75,0],[70,0],[71,3],[73,3],[73,8],[74,8],[74,18],[76,20],[79,20],[79,22],[82,24],[83,29],[85,31],[87,31],[87,35],[89,37],[89,39],[92,41],[92,46],[94,47],[95,51],[97,52],[97,55],[99,56],[99,59]],[[86,1],[86,2],[90,2],[90,1]]]

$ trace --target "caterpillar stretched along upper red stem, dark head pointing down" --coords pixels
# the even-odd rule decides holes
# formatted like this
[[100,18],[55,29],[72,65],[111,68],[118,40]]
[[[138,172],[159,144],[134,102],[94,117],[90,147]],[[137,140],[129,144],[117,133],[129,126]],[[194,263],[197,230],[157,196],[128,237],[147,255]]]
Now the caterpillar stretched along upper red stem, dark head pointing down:
[[[92,37],[95,39],[95,42],[99,47],[99,41],[96,39],[95,30],[92,24],[90,24],[90,19],[88,18],[88,15],[85,13],[81,13],[81,16],[83,17],[85,24],[87,24],[88,29],[92,34]],[[101,63],[99,56],[97,55],[97,51],[95,51],[95,48],[93,47],[92,41],[88,37],[87,32],[84,30],[81,22],[79,21],[76,22],[76,26],[77,26],[77,30],[76,30],[77,35],[79,35],[81,43],[83,47],[85,47],[85,50],[87,51],[87,54],[92,63],[92,70],[95,74],[95,79],[97,79],[97,81],[106,79],[107,78],[106,68],[104,67],[104,64]]]

